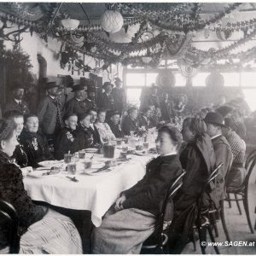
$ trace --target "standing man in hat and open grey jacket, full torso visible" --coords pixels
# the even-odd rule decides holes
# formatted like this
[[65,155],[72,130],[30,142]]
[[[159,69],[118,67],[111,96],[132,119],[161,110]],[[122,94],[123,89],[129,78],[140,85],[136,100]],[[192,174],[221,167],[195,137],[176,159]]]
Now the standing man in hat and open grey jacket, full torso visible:
[[53,143],[58,132],[61,130],[61,103],[57,100],[59,85],[55,82],[46,84],[48,95],[38,105],[39,125],[48,139]]

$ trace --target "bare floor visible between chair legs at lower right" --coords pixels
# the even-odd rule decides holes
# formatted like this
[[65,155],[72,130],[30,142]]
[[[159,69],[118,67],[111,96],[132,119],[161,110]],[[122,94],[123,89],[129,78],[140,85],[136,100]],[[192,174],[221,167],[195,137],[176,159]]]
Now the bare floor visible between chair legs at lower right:
[[[254,227],[256,214],[254,213],[256,207],[256,168],[253,170],[253,173],[250,177],[250,186],[249,186],[249,206],[250,206],[250,217]],[[247,224],[247,218],[244,212],[244,207],[242,203],[241,211],[242,215],[239,215],[238,209],[236,207],[236,202],[232,202],[232,207],[229,208],[228,203],[225,202],[224,213],[227,228],[230,233],[231,241],[248,241],[254,242],[253,247],[245,246],[232,246],[232,247],[218,247],[221,254],[256,254],[256,230],[254,234],[251,234]],[[221,221],[218,221],[218,233],[219,237],[216,238],[216,241],[225,241],[224,230],[221,224]],[[207,237],[207,241],[210,239]],[[247,242],[247,244],[248,244]],[[207,247],[207,253],[215,254],[213,247]],[[193,244],[189,243],[183,250],[183,254],[201,254],[201,248],[199,241],[196,242],[196,252],[194,251]]]

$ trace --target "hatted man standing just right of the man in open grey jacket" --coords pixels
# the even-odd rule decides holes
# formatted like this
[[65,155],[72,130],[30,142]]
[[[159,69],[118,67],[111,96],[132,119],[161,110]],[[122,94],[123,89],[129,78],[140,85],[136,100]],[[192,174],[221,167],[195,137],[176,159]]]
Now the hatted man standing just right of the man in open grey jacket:
[[69,100],[66,104],[65,113],[76,113],[78,116],[81,113],[86,112],[90,109],[90,106],[86,106],[84,101],[87,98],[87,92],[84,90],[84,85],[76,84],[73,85],[73,98]]

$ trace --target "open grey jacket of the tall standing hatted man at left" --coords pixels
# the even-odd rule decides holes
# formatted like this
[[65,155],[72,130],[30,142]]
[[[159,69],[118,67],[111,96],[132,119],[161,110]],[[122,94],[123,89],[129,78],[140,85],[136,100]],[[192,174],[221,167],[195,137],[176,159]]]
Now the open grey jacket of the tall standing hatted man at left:
[[61,106],[50,96],[44,97],[43,101],[38,106],[39,125],[44,134],[54,134],[61,128]]

